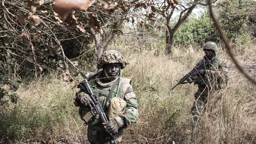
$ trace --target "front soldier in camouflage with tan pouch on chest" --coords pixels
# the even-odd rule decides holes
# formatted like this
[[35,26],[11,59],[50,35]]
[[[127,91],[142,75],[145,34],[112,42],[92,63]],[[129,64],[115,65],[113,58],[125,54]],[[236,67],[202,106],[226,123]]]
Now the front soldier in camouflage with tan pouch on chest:
[[89,143],[108,143],[109,134],[116,136],[116,141],[121,143],[123,130],[137,120],[139,105],[131,80],[121,77],[121,69],[126,64],[120,52],[107,50],[97,65],[102,71],[88,78],[92,92],[98,95],[108,117],[107,123],[102,123],[98,116],[92,116],[89,106],[93,103],[89,95],[81,89],[76,92],[74,103],[79,106],[81,119],[88,125]]

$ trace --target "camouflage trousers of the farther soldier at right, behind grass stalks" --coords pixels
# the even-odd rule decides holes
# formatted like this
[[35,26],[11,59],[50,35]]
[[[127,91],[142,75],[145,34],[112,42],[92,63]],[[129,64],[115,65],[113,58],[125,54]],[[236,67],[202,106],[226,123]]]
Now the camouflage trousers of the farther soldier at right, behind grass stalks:
[[195,99],[191,108],[193,129],[197,126],[200,115],[209,107],[208,102],[211,102],[210,111],[217,114],[217,100],[219,100],[220,97],[219,91],[209,92],[207,87],[199,87],[196,94],[194,94]]

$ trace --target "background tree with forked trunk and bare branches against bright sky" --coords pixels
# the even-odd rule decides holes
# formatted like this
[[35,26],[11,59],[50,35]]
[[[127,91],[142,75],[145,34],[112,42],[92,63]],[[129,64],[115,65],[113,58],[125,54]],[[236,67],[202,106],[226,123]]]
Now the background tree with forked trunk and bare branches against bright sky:
[[[166,34],[165,34],[165,53],[167,55],[171,54],[172,47],[174,46],[174,36],[181,24],[187,20],[188,16],[191,14],[196,5],[200,0],[194,1],[146,1],[150,5],[151,12],[148,14],[149,20],[154,20],[158,15],[165,18]],[[178,13],[178,20],[171,25],[171,18],[173,18],[174,13]]]

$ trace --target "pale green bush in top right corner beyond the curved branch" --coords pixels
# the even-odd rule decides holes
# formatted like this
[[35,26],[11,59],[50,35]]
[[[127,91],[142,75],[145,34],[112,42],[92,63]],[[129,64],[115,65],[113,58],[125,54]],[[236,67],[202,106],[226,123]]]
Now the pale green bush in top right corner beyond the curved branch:
[[[228,39],[233,43],[238,43],[243,39],[241,36],[255,36],[256,25],[256,2],[252,0],[244,1],[219,1],[217,9],[220,23],[225,30]],[[240,38],[242,38],[240,40]]]

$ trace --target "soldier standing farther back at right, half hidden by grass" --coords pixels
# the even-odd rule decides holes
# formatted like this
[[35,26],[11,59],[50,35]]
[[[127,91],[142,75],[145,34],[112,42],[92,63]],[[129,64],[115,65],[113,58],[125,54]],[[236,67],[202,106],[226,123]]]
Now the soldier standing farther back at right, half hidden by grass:
[[[209,41],[204,44],[203,50],[205,56],[199,61],[204,63],[204,68],[200,69],[198,73],[200,78],[194,81],[193,77],[187,79],[188,82],[194,82],[198,85],[198,90],[194,94],[194,103],[191,108],[193,130],[196,127],[200,114],[206,108],[209,98],[220,98],[220,89],[225,87],[228,82],[227,72],[228,66],[226,62],[216,56],[217,45],[216,43]],[[197,65],[199,65],[197,63]],[[208,63],[208,65],[206,65]]]

